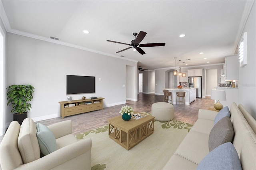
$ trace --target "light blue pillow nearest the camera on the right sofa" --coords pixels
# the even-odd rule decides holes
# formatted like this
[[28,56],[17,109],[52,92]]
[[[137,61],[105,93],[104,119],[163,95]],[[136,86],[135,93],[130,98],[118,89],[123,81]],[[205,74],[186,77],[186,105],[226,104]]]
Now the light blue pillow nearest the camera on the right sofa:
[[224,143],[210,152],[198,164],[197,170],[242,170],[242,166],[231,142]]

